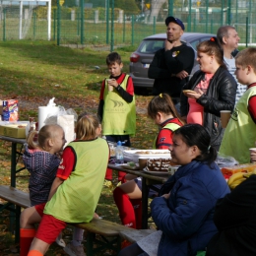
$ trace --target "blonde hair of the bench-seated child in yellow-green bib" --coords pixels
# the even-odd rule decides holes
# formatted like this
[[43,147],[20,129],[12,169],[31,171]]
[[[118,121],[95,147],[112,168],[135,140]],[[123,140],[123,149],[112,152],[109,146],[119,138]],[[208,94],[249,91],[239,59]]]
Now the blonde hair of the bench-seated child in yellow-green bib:
[[92,140],[96,138],[96,128],[100,126],[95,114],[84,112],[79,115],[76,134],[78,140]]

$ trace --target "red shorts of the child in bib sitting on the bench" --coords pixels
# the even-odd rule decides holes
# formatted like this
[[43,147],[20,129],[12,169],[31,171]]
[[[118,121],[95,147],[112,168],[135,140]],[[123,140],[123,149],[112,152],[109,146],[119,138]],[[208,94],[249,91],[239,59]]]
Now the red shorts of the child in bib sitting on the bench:
[[[36,210],[37,211],[37,210]],[[35,237],[48,244],[53,243],[59,233],[66,227],[66,223],[51,215],[43,215],[36,231]]]

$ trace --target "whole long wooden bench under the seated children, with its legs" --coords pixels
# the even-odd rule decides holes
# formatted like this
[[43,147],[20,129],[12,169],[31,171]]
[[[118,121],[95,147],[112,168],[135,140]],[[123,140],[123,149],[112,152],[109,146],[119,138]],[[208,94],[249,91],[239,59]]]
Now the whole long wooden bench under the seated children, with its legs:
[[[17,188],[0,185],[0,198],[8,202],[0,207],[0,211],[7,209],[15,213],[15,241],[19,242],[21,208],[31,207],[30,195]],[[122,238],[130,242],[135,242],[155,231],[154,229],[137,230],[122,224],[115,224],[101,219],[94,219],[89,224],[71,225],[87,231],[86,248],[88,256],[92,256],[103,249],[111,249],[118,253],[121,249]],[[96,248],[94,248],[95,244],[97,245]]]

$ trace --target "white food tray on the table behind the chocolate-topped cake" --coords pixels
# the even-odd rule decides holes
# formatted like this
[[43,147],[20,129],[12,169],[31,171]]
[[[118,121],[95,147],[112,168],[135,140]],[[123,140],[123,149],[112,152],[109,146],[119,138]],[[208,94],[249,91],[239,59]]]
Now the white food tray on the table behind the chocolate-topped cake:
[[130,150],[123,152],[125,161],[139,162],[140,158],[147,159],[169,159],[170,153],[168,150]]

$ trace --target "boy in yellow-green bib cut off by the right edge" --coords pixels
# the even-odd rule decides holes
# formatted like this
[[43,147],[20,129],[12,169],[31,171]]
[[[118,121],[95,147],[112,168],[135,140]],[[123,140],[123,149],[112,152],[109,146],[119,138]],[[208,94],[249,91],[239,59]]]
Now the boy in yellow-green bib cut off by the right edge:
[[249,47],[235,56],[237,81],[247,85],[224,131],[220,153],[239,163],[250,162],[250,148],[256,142],[256,48]]

